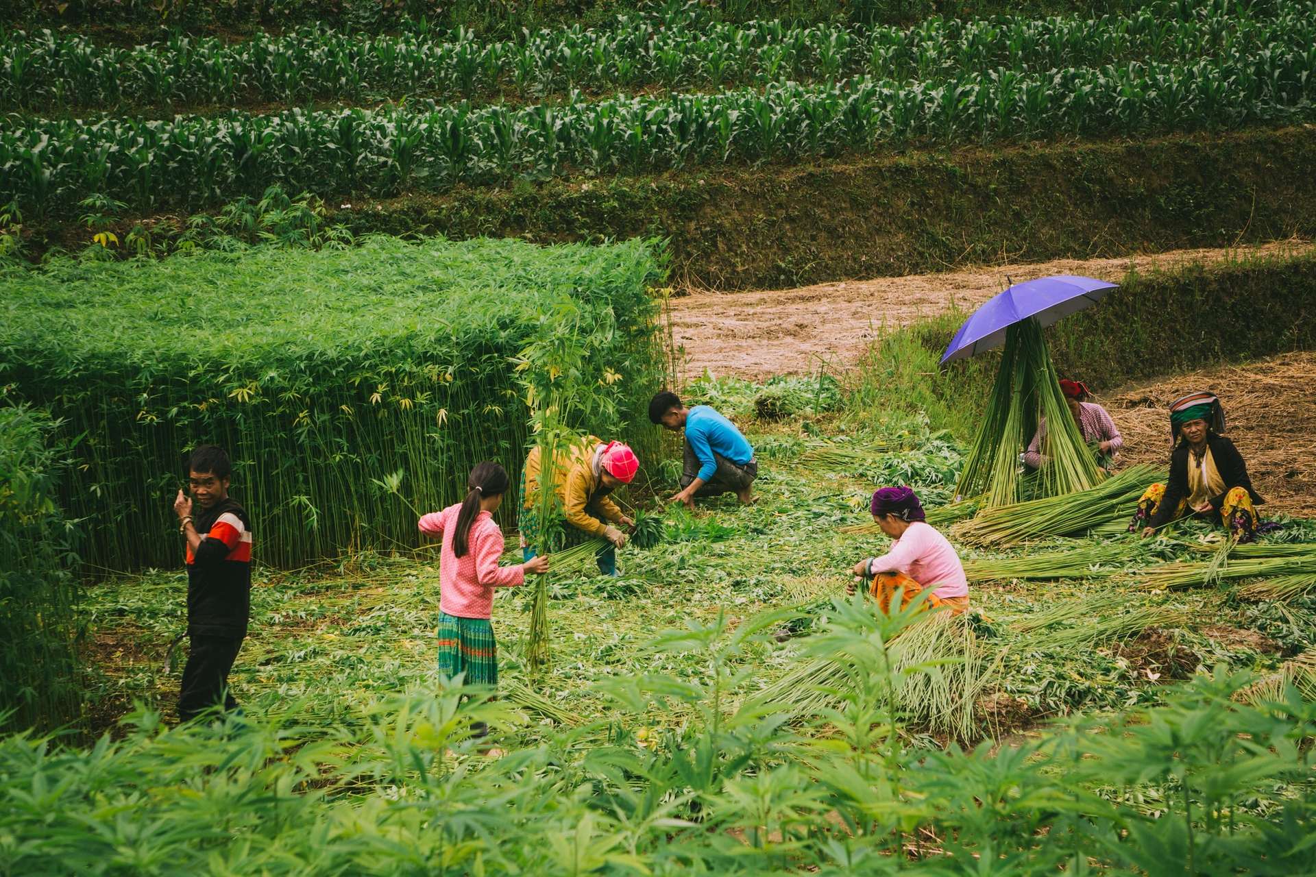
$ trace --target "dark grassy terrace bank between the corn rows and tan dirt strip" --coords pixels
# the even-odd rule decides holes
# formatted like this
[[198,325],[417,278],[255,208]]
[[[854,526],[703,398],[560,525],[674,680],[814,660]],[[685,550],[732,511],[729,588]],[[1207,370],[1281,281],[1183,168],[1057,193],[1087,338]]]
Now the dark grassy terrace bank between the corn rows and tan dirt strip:
[[[459,188],[340,201],[324,222],[540,243],[657,235],[678,284],[772,288],[1311,237],[1316,183],[1302,168],[1313,163],[1316,133],[1292,128]],[[187,229],[128,214],[96,230],[126,241],[138,225],[157,247]],[[22,234],[32,258],[91,235],[30,217]]]

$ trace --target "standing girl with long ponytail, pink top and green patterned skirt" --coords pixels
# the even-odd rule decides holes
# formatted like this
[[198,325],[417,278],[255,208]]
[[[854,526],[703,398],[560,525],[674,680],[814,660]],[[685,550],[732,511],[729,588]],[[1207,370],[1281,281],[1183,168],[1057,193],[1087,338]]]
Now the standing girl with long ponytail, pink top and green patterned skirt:
[[[503,531],[494,513],[507,493],[507,471],[497,463],[479,463],[466,481],[466,500],[420,519],[420,531],[443,540],[438,561],[438,672],[447,678],[465,673],[467,685],[497,686],[497,643],[490,614],[494,589],[513,588],[525,573],[549,571],[547,557],[512,567],[497,565]],[[487,728],[475,724],[476,736]]]

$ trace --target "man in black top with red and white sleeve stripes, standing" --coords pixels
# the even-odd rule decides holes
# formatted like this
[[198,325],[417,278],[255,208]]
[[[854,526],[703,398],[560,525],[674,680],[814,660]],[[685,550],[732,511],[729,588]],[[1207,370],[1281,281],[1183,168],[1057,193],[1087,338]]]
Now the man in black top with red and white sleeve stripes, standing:
[[178,531],[187,539],[190,651],[178,698],[184,722],[213,706],[238,705],[228,685],[251,610],[251,521],[229,498],[230,473],[228,454],[201,444],[188,463],[192,498],[179,490],[174,500]]

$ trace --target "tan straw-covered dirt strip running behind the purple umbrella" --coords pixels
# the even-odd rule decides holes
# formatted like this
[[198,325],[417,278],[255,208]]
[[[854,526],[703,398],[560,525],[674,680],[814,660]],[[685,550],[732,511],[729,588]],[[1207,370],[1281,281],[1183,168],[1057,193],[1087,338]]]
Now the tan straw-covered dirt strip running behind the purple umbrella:
[[1146,271],[1183,262],[1223,262],[1265,252],[1305,252],[1311,242],[1284,241],[1233,250],[1173,250],[1120,259],[1058,260],[974,268],[949,273],[844,280],[800,289],[699,292],[671,301],[671,326],[684,347],[686,375],[762,379],[808,372],[820,359],[854,362],[883,326],[932,317],[953,305],[973,308],[1013,281],[1053,273],[1120,279],[1130,267]]

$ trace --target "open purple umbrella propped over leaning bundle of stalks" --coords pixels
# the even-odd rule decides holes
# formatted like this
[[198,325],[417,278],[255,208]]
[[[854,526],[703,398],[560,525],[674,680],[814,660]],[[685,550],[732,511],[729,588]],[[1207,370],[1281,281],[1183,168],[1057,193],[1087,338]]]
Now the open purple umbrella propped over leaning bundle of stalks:
[[1116,285],[1095,277],[1067,273],[1016,283],[1005,292],[992,296],[965,321],[950,339],[941,362],[966,359],[984,350],[1000,347],[1005,343],[1005,327],[1020,320],[1034,317],[1044,326],[1050,326],[1061,317],[1095,305]]

